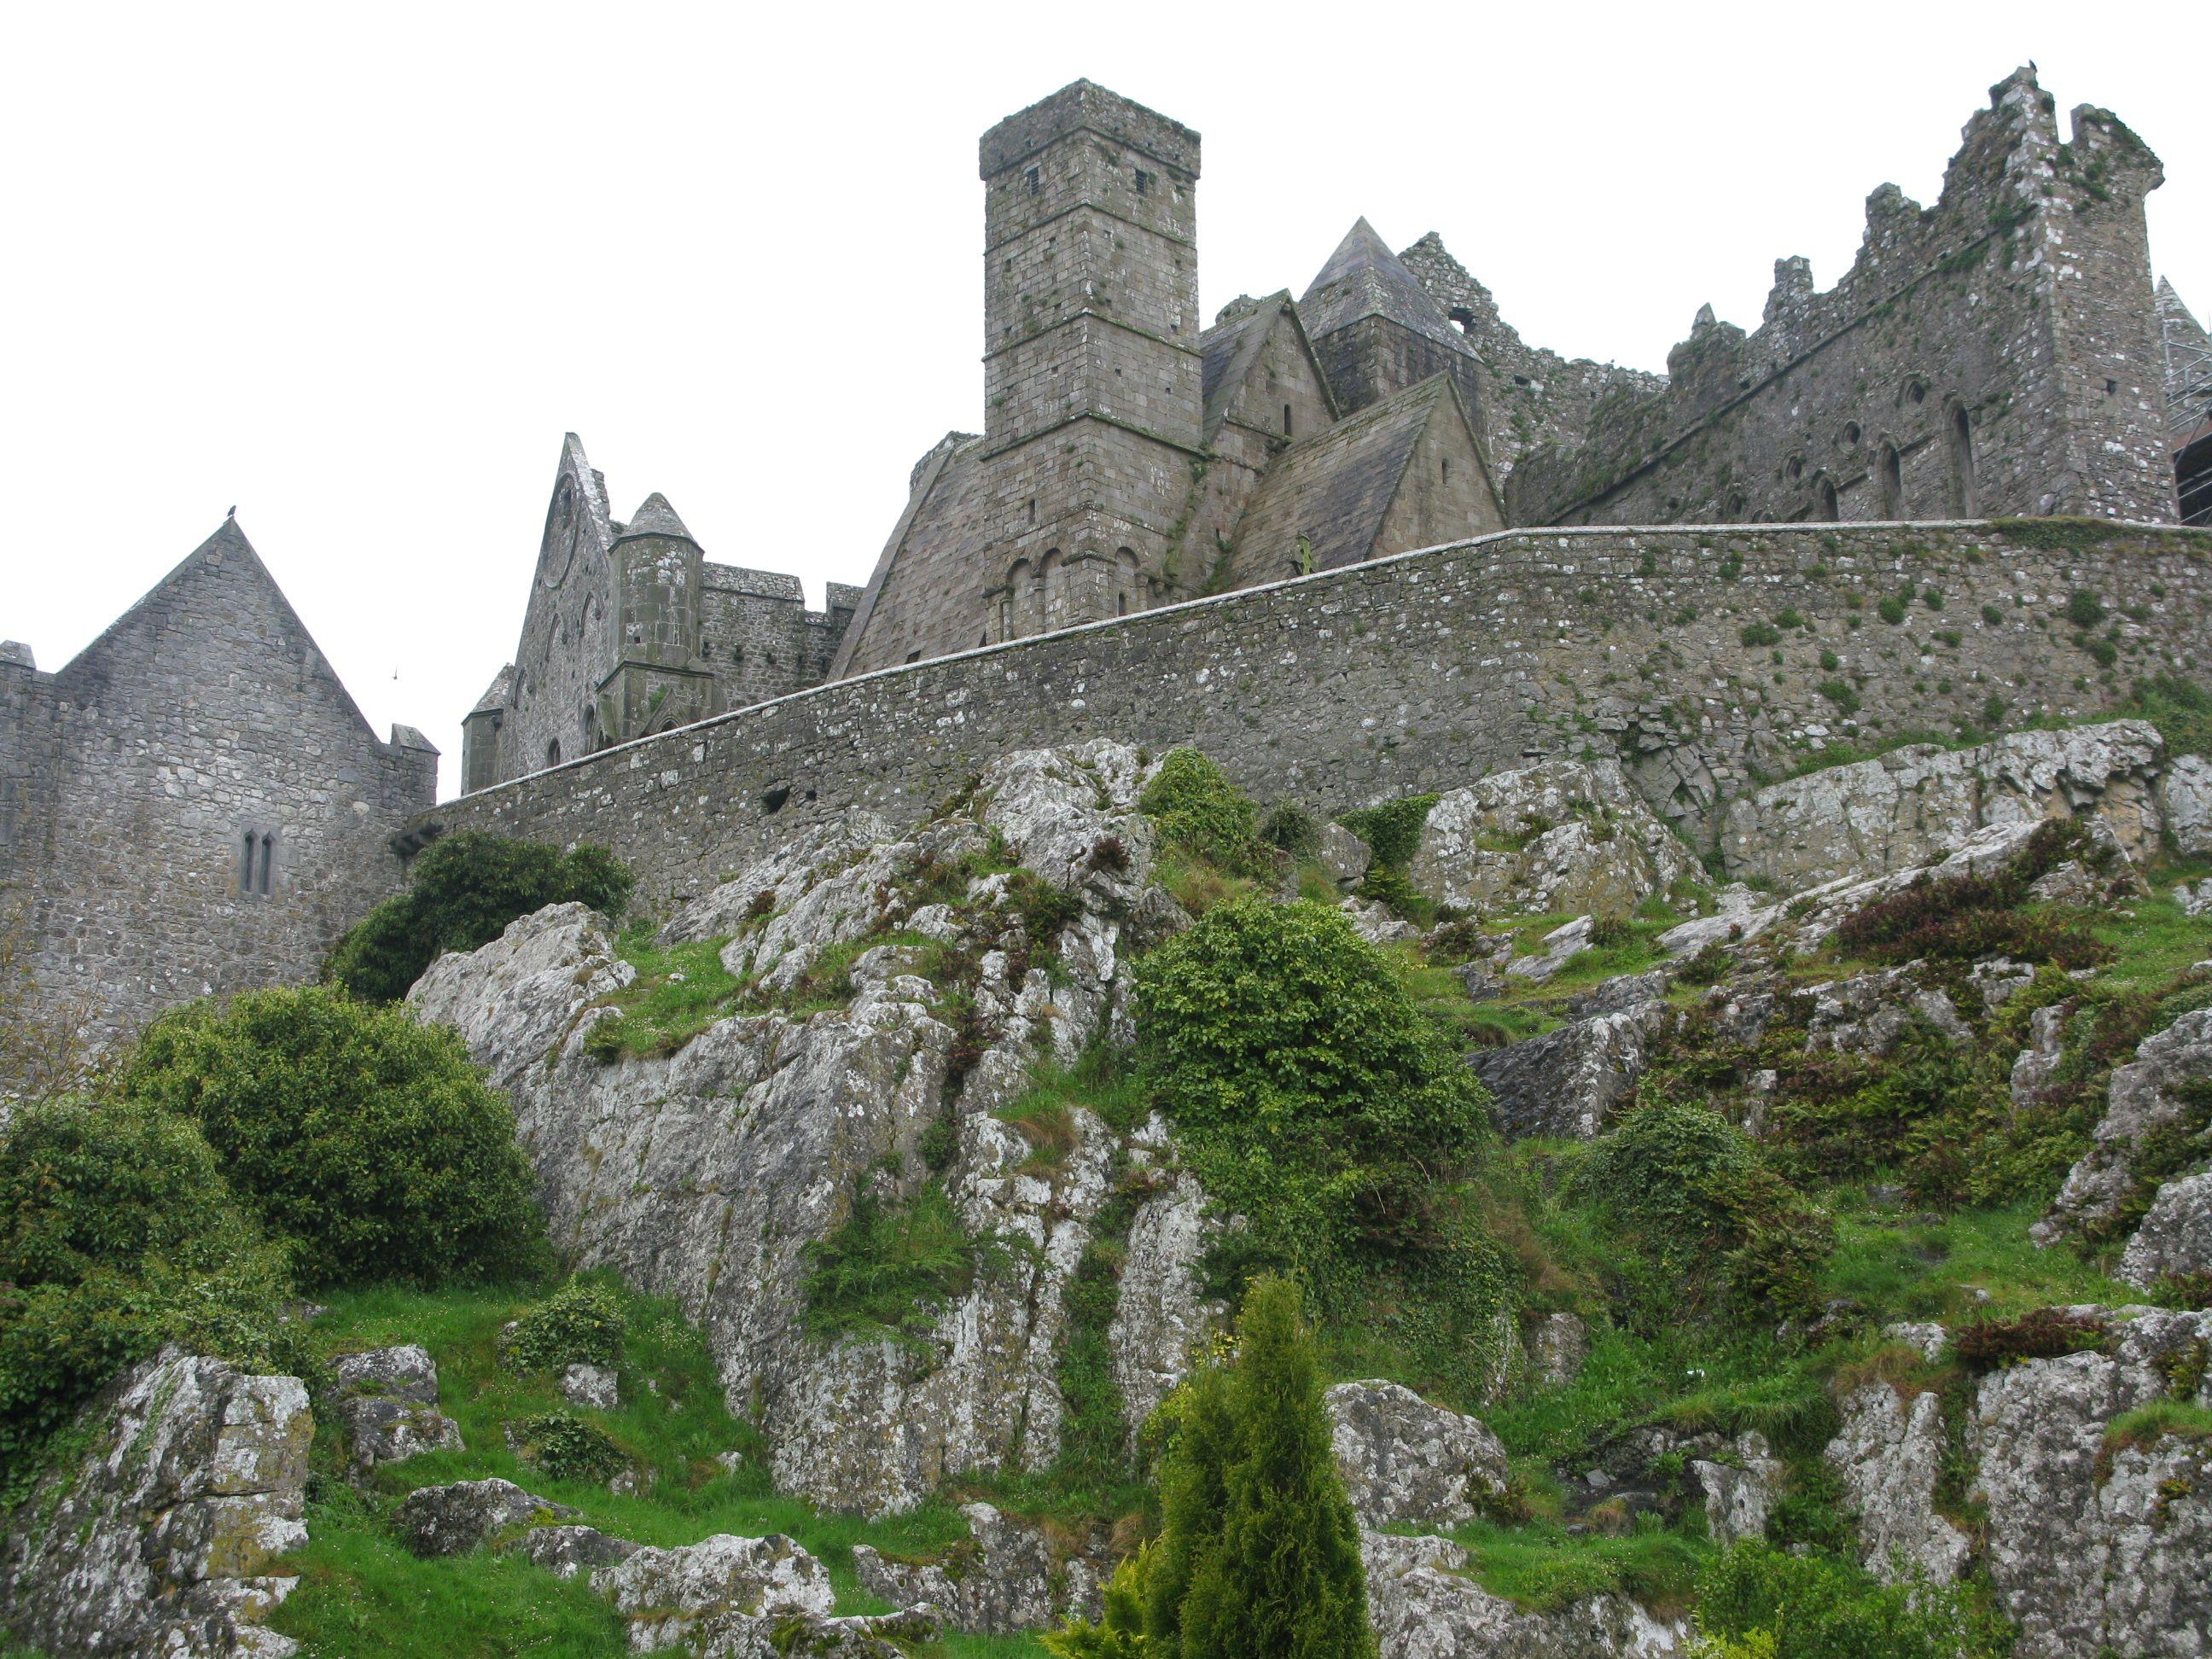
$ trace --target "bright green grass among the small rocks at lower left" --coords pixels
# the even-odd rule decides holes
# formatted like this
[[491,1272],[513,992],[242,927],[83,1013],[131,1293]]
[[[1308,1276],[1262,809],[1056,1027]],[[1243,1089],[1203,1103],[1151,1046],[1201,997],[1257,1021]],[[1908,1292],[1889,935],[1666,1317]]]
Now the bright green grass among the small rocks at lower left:
[[[863,1522],[818,1515],[796,1498],[774,1495],[759,1433],[730,1416],[712,1358],[697,1329],[668,1303],[626,1296],[628,1343],[619,1369],[622,1407],[584,1411],[653,1484],[617,1495],[588,1482],[549,1480],[507,1449],[504,1427],[564,1409],[549,1376],[515,1376],[500,1365],[498,1332],[535,1292],[469,1287],[436,1294],[369,1290],[336,1294],[316,1318],[325,1352],[422,1343],[438,1363],[438,1405],[462,1431],[465,1451],[431,1453],[378,1469],[363,1491],[341,1478],[334,1425],[316,1433],[316,1480],[307,1504],[307,1544],[288,1559],[301,1586],[272,1626],[307,1644],[319,1659],[392,1655],[540,1655],[613,1659],[626,1652],[624,1621],[582,1582],[562,1584],[520,1557],[476,1551],[420,1562],[398,1546],[389,1511],[416,1486],[502,1475],[584,1513],[584,1522],[639,1544],[692,1544],[712,1533],[790,1533],[830,1568],[841,1613],[883,1613],[860,1590],[852,1546],[867,1542],[905,1555],[931,1555],[967,1535],[949,1504]],[[650,1387],[648,1387],[650,1383]],[[330,1413],[325,1413],[327,1418]],[[737,1451],[726,1471],[714,1453]],[[1031,1655],[1026,1641],[953,1637],[945,1655]]]

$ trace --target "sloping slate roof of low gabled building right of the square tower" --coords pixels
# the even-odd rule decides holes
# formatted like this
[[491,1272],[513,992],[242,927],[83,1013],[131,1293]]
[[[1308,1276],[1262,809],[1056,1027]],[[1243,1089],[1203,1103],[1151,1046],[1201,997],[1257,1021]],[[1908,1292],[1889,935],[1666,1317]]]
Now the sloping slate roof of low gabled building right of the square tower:
[[1281,549],[1287,555],[1303,535],[1316,571],[1376,557],[1407,460],[1438,411],[1464,420],[1451,378],[1442,374],[1285,449],[1237,526],[1239,551],[1274,557]]

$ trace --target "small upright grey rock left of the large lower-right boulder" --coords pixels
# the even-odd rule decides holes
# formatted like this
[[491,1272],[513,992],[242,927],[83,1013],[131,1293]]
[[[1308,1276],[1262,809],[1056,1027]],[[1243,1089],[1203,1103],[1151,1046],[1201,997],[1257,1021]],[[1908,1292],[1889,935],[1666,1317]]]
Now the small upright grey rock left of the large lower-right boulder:
[[1843,1400],[1843,1431],[1827,1442],[1827,1460],[1843,1475],[1865,1566],[1885,1582],[1922,1573],[1949,1584],[1966,1564],[1966,1535],[1936,1513],[1942,1453],[1938,1396],[1905,1398],[1887,1383],[1867,1383]]

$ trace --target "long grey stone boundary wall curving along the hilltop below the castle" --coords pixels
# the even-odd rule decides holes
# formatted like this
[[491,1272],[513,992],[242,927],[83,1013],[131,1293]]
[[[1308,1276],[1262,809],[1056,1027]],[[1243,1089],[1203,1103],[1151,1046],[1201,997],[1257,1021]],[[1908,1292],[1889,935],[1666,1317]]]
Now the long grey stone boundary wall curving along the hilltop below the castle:
[[[1891,624],[1882,599],[1898,615],[1907,586]],[[2088,635],[2066,619],[2077,591],[2110,613]],[[2093,714],[2135,677],[2203,664],[2203,531],[1504,531],[834,681],[449,801],[414,830],[606,843],[664,909],[803,823],[914,821],[995,754],[1115,737],[1194,743],[1259,799],[1327,814],[1533,752],[1617,752],[1703,845],[1714,807],[1796,750],[1984,726],[1991,699],[2004,723]]]

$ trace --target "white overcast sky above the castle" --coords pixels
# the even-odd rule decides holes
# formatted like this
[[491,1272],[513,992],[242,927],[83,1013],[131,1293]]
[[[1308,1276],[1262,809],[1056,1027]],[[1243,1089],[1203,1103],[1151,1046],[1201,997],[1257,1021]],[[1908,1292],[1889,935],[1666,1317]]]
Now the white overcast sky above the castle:
[[[1206,314],[1367,215],[1535,345],[1663,369],[1827,288],[2035,60],[2166,159],[2212,312],[2201,0],[2084,7],[0,4],[0,637],[60,668],[239,522],[378,734],[460,759],[564,431],[617,515],[865,582],[982,420],[975,139],[1088,75],[1206,137]],[[2064,115],[2062,115],[2064,119]]]

